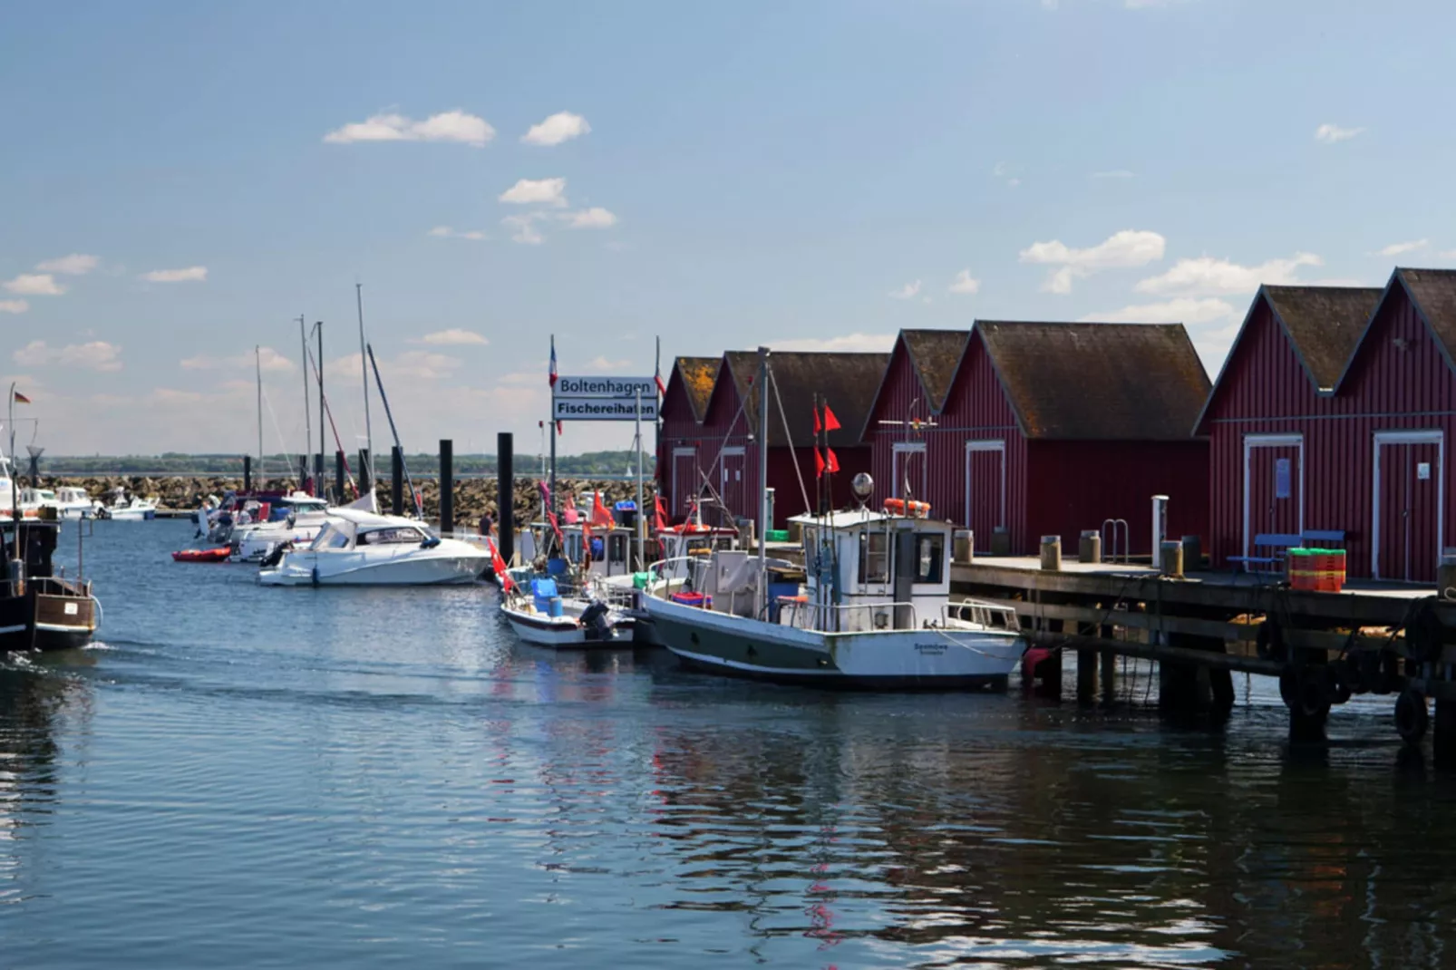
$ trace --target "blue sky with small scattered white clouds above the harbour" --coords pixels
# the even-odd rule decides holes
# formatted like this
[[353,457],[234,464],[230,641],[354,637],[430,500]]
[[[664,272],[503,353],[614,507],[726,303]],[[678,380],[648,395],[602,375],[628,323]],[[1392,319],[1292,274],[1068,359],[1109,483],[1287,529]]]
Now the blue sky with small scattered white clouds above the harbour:
[[52,454],[245,453],[261,360],[300,452],[303,316],[355,449],[355,284],[409,452],[534,453],[552,334],[563,374],[661,338],[665,376],[1182,322],[1216,376],[1259,283],[1456,265],[1453,35],[1425,0],[4,3],[0,379]]

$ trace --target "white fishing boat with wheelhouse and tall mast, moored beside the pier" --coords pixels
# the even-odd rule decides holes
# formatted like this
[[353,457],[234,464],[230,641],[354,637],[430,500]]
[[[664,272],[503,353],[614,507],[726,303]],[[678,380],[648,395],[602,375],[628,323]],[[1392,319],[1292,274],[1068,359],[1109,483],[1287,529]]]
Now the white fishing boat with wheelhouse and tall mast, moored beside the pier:
[[[760,441],[767,440],[769,354],[760,351]],[[760,463],[761,469],[767,463]],[[760,518],[769,521],[760,479]],[[952,524],[929,505],[891,500],[882,511],[858,475],[859,507],[791,521],[802,569],[718,549],[687,558],[684,578],[652,581],[642,597],[657,636],[684,666],[780,683],[872,689],[1006,686],[1025,645],[1016,612],[951,600]],[[676,564],[655,567],[673,574]]]

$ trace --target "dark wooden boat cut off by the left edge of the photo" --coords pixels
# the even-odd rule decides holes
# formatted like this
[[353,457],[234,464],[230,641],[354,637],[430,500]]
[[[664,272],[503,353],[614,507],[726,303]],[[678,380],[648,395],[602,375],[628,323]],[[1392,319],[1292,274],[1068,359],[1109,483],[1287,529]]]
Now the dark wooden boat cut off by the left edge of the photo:
[[[80,524],[76,524],[80,529]],[[100,606],[90,583],[54,575],[61,523],[26,518],[4,526],[0,574],[0,650],[71,650],[96,635]]]

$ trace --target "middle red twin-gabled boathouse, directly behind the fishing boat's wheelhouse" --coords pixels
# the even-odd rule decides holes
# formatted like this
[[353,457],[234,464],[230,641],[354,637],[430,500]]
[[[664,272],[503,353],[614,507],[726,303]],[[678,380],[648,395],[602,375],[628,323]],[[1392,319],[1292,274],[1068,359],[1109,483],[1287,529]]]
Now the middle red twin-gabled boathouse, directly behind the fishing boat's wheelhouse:
[[983,553],[1044,535],[1076,549],[1107,518],[1147,553],[1156,494],[1171,536],[1206,532],[1208,444],[1191,428],[1207,393],[1181,323],[904,331],[865,425],[877,498],[927,500]]

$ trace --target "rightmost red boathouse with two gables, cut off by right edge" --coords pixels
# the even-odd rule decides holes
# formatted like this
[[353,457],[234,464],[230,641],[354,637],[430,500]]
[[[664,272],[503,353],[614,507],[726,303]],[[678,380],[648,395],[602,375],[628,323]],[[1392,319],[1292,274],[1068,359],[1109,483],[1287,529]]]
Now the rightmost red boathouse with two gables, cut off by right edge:
[[1456,271],[1385,290],[1261,287],[1198,421],[1211,552],[1342,532],[1351,577],[1431,583],[1456,545]]

